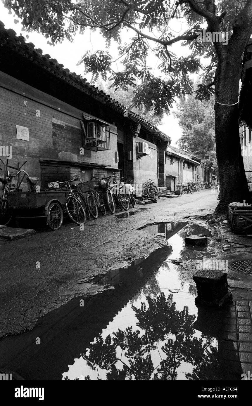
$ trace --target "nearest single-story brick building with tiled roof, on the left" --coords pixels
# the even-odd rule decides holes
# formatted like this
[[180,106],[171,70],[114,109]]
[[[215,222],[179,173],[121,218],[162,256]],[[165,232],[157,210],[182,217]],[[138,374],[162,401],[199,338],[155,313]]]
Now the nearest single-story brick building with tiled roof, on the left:
[[[0,155],[40,179],[164,178],[170,138],[0,22]],[[0,156],[0,158],[2,158]],[[3,158],[2,158],[3,160]],[[0,165],[1,167],[1,165]]]

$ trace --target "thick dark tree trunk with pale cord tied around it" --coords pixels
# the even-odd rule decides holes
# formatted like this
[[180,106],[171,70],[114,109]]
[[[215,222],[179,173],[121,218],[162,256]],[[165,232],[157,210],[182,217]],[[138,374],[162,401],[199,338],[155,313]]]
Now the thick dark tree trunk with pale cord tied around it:
[[249,199],[241,155],[239,110],[238,104],[235,104],[238,101],[240,76],[241,59],[226,54],[218,63],[215,74],[215,141],[220,182],[216,214],[226,212],[231,202]]

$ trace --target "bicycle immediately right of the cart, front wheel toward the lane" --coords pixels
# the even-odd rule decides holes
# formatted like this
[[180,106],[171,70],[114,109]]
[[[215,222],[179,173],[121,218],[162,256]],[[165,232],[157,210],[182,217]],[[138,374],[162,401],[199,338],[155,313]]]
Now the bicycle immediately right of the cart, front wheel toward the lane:
[[73,175],[71,179],[65,182],[56,181],[56,183],[62,185],[62,187],[67,188],[68,194],[65,202],[65,209],[71,220],[74,221],[76,224],[81,225],[85,224],[87,215],[83,207],[83,202],[81,202],[80,199],[76,197],[76,194],[71,185],[71,182],[79,180],[79,178],[74,179],[74,177],[76,176],[78,176],[78,174]]

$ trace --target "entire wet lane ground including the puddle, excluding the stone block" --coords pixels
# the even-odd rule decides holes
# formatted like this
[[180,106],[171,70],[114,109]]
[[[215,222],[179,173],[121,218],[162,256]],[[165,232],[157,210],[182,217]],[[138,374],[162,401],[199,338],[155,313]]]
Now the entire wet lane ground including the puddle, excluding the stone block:
[[[2,243],[0,368],[25,379],[241,379],[252,370],[252,276],[228,268],[234,300],[220,310],[196,306],[193,281],[204,257],[250,261],[252,239],[206,223],[211,191],[182,199],[90,220],[81,239],[67,223]],[[185,244],[191,234],[207,245]]]

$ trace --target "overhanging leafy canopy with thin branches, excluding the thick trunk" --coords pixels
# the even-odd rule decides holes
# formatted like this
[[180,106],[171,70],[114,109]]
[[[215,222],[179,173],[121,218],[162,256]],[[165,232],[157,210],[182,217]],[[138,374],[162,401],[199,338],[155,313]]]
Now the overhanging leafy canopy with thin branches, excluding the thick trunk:
[[[26,30],[37,30],[50,37],[52,44],[63,39],[72,41],[76,32],[86,28],[99,29],[106,39],[106,50],[87,51],[80,63],[85,71],[92,72],[96,82],[112,81],[115,89],[134,89],[133,103],[138,109],[152,108],[155,114],[169,112],[176,97],[190,93],[193,84],[190,73],[201,73],[196,97],[209,99],[217,61],[225,51],[218,43],[196,41],[197,32],[206,20],[211,28],[234,34],[235,21],[244,12],[250,0],[196,2],[195,0],[4,0],[13,10]],[[172,29],[173,20],[185,22],[185,30],[177,34]],[[124,43],[123,38],[127,37]],[[117,44],[122,68],[113,70],[111,43]],[[172,45],[182,41],[191,55],[176,56]],[[158,58],[158,73],[148,66],[150,56]],[[209,63],[202,65],[202,56]],[[206,59],[207,60],[207,59]]]

